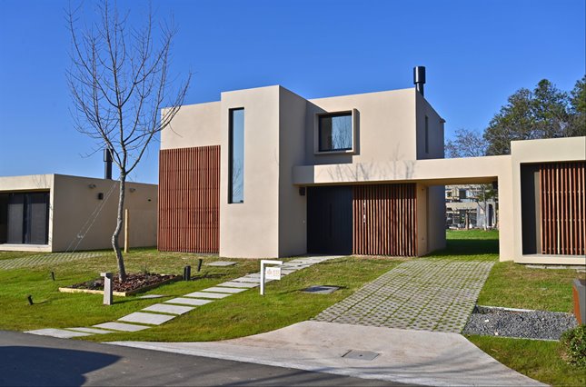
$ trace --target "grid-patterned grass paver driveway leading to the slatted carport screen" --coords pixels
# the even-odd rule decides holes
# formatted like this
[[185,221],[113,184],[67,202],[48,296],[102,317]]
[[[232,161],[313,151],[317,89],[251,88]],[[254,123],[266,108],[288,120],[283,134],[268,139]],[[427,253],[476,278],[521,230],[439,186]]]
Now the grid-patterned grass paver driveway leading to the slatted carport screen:
[[460,333],[491,268],[425,258],[401,263],[313,320]]

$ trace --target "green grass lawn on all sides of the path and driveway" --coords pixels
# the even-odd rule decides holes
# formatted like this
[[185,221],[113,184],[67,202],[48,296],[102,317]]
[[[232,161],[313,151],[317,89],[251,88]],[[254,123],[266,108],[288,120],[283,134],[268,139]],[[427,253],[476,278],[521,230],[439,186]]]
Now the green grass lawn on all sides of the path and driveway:
[[[492,272],[482,288],[479,304],[556,312],[571,311],[571,281],[574,270],[527,269],[523,265],[498,262],[498,232],[481,230],[448,231],[447,248],[433,253],[429,259],[484,260],[494,262]],[[37,253],[0,253],[0,260]],[[137,249],[126,255],[127,271],[152,273],[183,272],[185,265],[194,273],[197,259],[204,263],[218,260],[215,256],[190,253],[160,253],[154,249]],[[169,323],[142,332],[112,333],[88,336],[84,340],[114,341],[212,341],[268,332],[310,319],[328,306],[352,294],[401,263],[396,258],[340,258],[313,265],[290,274],[279,282],[267,284],[266,295],[258,289],[234,294],[223,300],[197,307]],[[115,297],[112,306],[102,305],[95,294],[59,293],[59,286],[96,278],[100,272],[116,270],[114,255],[27,269],[0,271],[0,329],[25,331],[39,328],[89,326],[114,321],[153,303],[191,293],[222,283],[258,269],[257,260],[237,260],[230,267],[203,266],[192,282],[164,285],[148,293],[165,294],[167,298],[140,300]],[[50,272],[55,272],[56,281]],[[342,286],[332,294],[309,294],[307,286],[324,284]],[[26,296],[33,295],[35,305]],[[541,382],[554,385],[584,385],[583,370],[561,360],[559,342],[470,336],[484,352],[505,365]]]

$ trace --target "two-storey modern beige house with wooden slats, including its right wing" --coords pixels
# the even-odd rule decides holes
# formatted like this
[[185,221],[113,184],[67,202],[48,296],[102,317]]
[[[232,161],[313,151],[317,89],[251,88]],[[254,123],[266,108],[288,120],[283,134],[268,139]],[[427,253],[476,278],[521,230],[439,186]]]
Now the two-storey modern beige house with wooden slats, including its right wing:
[[445,184],[498,184],[501,260],[583,264],[585,139],[443,159],[415,74],[410,89],[308,100],[275,85],[183,106],[162,133],[158,248],[421,256],[445,246]]

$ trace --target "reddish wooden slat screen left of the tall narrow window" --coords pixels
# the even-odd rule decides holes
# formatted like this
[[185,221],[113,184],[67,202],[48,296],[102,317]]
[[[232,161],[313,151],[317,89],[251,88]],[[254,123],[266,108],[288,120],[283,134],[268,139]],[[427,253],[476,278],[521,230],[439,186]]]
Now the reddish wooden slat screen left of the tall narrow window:
[[220,146],[162,150],[158,249],[218,253],[219,222]]

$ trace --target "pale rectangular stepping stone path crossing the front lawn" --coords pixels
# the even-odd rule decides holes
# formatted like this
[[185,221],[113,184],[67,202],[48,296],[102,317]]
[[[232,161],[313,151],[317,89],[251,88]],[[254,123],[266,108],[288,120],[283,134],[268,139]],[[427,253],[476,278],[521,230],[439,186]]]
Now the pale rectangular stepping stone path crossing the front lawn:
[[[322,263],[340,256],[322,256],[322,257],[304,257],[297,258],[293,261],[283,263],[282,274],[288,275],[298,270],[310,267],[315,263]],[[28,257],[31,258],[31,257]],[[218,261],[220,266],[229,266],[230,262]],[[233,264],[233,263],[230,263]],[[214,264],[210,264],[214,266]],[[216,266],[218,264],[215,264]],[[92,327],[76,327],[65,329],[38,329],[35,331],[28,331],[26,333],[40,334],[45,336],[54,336],[62,338],[71,338],[79,336],[88,336],[91,334],[104,334],[112,332],[137,332],[144,329],[151,328],[156,325],[161,325],[173,320],[175,317],[184,313],[192,312],[196,306],[204,305],[206,303],[214,303],[214,301],[229,297],[236,293],[245,292],[260,286],[260,273],[251,273],[243,277],[236,278],[226,283],[203,289],[198,292],[185,294],[182,297],[175,297],[167,300],[164,303],[155,303],[142,309],[140,312],[130,313],[119,318],[115,322],[99,323]],[[265,283],[270,283],[273,280],[266,280]],[[161,294],[147,294],[139,298],[159,298],[164,297]]]

